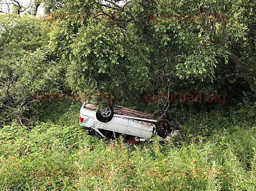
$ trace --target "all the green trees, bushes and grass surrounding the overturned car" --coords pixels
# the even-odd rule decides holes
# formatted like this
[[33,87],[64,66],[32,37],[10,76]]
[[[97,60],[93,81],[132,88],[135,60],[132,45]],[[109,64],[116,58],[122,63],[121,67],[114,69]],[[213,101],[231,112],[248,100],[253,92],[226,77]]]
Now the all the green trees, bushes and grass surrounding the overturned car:
[[[41,1],[28,11],[18,2],[0,15],[1,190],[255,190],[254,1],[44,0],[41,21]],[[90,11],[94,21],[56,21]],[[66,99],[87,91],[167,109],[182,132],[166,144],[91,136],[78,124],[82,100]],[[200,92],[201,102],[145,100]],[[225,103],[207,102],[207,92]]]

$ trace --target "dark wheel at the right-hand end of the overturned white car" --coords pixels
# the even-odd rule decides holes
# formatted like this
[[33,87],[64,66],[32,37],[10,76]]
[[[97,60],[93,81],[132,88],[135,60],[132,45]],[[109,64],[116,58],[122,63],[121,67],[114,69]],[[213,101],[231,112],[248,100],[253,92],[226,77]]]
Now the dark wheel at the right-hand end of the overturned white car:
[[173,128],[167,120],[160,119],[156,122],[156,133],[161,138],[165,139],[167,136],[172,134]]

